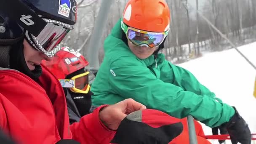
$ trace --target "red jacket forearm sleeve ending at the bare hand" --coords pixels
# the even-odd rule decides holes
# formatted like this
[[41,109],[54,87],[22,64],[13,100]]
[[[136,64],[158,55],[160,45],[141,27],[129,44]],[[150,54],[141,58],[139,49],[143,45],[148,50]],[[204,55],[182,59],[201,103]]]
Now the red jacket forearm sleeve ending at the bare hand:
[[106,106],[96,108],[93,113],[83,116],[79,123],[70,125],[73,139],[81,144],[109,144],[115,131],[109,130],[99,119],[99,110]]

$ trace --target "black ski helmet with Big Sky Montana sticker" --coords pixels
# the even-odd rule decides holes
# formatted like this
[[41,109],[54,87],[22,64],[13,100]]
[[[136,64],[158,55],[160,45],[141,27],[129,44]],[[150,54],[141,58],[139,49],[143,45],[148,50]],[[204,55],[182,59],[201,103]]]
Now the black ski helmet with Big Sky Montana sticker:
[[47,24],[42,17],[74,25],[76,4],[76,0],[4,0],[0,4],[0,39],[15,39],[24,29],[37,36]]

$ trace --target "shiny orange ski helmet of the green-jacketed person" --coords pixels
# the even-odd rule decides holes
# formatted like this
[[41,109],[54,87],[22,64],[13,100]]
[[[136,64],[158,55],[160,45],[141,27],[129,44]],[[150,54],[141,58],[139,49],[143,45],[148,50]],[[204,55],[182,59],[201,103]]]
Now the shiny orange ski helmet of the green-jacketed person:
[[170,28],[170,10],[165,0],[129,0],[122,16],[125,24],[136,29],[165,32]]

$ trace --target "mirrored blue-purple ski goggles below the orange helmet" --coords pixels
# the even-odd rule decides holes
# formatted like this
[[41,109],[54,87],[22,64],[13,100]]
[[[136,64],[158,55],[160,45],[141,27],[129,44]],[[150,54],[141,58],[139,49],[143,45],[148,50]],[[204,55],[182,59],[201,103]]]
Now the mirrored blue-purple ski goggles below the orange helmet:
[[128,40],[134,45],[148,46],[153,48],[163,43],[163,40],[168,35],[169,30],[165,32],[147,32],[133,27],[128,27],[123,21],[121,22],[121,28],[125,32]]

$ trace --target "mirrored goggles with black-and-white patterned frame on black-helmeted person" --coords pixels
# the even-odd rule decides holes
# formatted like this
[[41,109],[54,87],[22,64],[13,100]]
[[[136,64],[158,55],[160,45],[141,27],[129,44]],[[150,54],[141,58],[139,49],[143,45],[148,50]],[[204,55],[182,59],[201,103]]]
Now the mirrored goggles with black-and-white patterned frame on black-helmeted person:
[[37,51],[44,53],[48,57],[53,57],[61,49],[59,43],[61,43],[68,32],[74,29],[74,27],[60,21],[42,19],[47,24],[37,37],[28,31],[26,31],[25,35],[29,43]]

